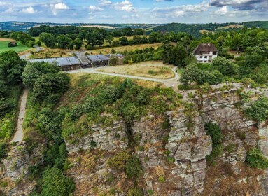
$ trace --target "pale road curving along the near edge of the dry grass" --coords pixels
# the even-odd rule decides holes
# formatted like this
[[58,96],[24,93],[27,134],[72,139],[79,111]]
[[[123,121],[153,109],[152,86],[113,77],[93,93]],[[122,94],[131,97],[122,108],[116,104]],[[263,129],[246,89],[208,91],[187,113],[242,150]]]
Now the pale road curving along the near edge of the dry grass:
[[71,70],[71,71],[66,71],[66,73],[95,73],[95,74],[100,74],[100,75],[105,75],[105,76],[117,76],[117,77],[122,77],[122,78],[132,78],[136,80],[147,80],[151,82],[157,82],[157,83],[163,83],[167,87],[171,87],[174,90],[177,90],[177,86],[180,84],[178,81],[180,76],[178,73],[176,73],[176,67],[172,68],[172,71],[175,74],[174,78],[170,79],[157,79],[157,78],[147,78],[147,77],[141,77],[141,76],[131,76],[131,75],[126,75],[126,74],[118,74],[118,73],[105,73],[98,71],[99,69],[105,69],[105,66],[98,67],[98,68],[86,68],[86,69],[77,69],[77,70]]

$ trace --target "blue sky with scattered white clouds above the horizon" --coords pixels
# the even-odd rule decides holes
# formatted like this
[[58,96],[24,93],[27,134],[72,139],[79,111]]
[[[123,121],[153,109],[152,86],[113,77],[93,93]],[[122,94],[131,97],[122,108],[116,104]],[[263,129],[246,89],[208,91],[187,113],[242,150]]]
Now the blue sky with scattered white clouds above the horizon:
[[0,21],[207,23],[268,20],[268,0],[0,0]]

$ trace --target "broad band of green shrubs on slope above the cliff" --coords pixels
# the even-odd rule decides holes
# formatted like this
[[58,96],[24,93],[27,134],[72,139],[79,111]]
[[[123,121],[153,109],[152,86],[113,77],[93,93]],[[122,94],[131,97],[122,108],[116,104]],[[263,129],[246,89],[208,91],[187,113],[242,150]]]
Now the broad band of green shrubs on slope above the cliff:
[[[73,97],[75,94],[80,94],[80,98]],[[121,118],[132,123],[148,113],[162,114],[179,106],[180,99],[180,94],[171,89],[146,89],[130,79],[80,76],[76,87],[71,87],[64,97],[68,106],[62,137],[83,137],[93,124],[110,125]],[[71,101],[79,104],[69,103]]]

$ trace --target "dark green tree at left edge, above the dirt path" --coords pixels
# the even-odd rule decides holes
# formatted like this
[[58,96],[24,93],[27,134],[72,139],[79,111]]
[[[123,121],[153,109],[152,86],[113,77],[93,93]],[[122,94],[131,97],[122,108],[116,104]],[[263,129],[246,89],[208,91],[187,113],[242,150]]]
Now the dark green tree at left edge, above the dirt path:
[[17,52],[7,51],[0,54],[0,79],[8,84],[18,84],[22,82],[22,71],[26,61],[20,59]]

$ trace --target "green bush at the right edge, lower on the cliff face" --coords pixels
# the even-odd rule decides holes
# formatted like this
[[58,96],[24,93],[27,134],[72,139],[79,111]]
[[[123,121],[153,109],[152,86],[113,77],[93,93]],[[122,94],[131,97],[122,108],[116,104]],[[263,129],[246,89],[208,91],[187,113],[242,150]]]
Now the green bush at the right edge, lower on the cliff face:
[[251,167],[257,167],[260,169],[268,168],[268,159],[262,154],[258,148],[251,148],[246,155],[246,162]]

